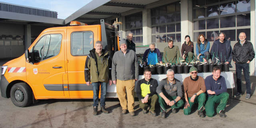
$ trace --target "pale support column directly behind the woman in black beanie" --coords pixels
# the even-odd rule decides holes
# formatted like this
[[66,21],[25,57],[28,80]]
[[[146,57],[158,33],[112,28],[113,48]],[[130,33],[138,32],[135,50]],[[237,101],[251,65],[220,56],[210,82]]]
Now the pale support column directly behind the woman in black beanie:
[[181,45],[185,41],[185,36],[189,35],[193,41],[193,8],[192,0],[180,0],[181,13]]

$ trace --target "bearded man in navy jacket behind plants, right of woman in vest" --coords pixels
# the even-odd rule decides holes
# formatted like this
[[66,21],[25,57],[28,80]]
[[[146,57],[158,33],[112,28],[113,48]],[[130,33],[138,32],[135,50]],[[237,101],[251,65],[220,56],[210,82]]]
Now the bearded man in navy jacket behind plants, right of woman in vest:
[[[230,40],[226,40],[226,35],[223,32],[219,33],[219,39],[212,44],[211,52],[212,61],[224,62],[230,64],[232,60],[232,48]],[[232,68],[231,64],[230,67]]]

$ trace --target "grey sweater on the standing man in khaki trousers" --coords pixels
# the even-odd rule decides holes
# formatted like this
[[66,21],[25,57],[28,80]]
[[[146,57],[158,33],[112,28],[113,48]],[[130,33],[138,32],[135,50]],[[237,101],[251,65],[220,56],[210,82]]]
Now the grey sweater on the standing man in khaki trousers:
[[127,49],[126,54],[119,50],[115,52],[111,70],[112,80],[132,80],[139,78],[139,68],[136,54]]

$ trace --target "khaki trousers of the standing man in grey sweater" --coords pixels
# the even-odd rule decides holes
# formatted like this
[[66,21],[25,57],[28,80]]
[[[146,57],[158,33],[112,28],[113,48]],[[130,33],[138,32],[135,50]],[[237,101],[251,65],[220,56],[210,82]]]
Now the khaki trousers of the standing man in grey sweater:
[[[122,109],[134,112],[134,86],[135,80],[116,80],[116,93]],[[125,92],[126,91],[126,92]],[[126,99],[127,93],[127,99]],[[128,102],[127,102],[128,101]]]

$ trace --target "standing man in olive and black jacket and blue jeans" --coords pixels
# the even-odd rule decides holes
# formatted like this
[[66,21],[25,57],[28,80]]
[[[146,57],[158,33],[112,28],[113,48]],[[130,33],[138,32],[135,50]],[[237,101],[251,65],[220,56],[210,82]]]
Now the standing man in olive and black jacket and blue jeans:
[[98,114],[98,98],[99,90],[100,93],[100,111],[104,113],[109,113],[105,108],[106,99],[106,84],[112,84],[111,73],[109,72],[109,52],[102,49],[102,42],[97,41],[95,43],[95,48],[90,50],[90,54],[86,58],[84,67],[84,78],[87,86],[90,86],[92,82],[93,90],[93,114]]

